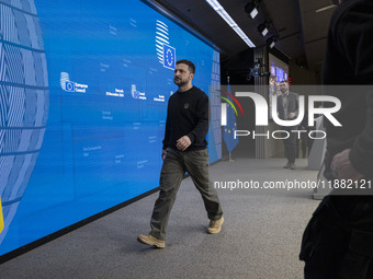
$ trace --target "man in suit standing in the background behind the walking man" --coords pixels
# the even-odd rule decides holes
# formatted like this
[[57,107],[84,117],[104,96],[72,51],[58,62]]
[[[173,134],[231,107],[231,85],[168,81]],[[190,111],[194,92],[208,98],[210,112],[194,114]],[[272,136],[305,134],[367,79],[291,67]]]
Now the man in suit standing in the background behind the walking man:
[[[278,114],[280,119],[282,120],[292,120],[298,115],[299,107],[299,96],[296,93],[289,91],[287,81],[280,82],[280,91],[281,95],[278,96]],[[284,135],[284,148],[285,148],[285,158],[287,159],[287,163],[284,168],[295,170],[295,156],[296,156],[296,132],[292,132],[292,130],[296,130],[296,126],[290,127],[281,127],[282,130],[287,131],[287,135]]]

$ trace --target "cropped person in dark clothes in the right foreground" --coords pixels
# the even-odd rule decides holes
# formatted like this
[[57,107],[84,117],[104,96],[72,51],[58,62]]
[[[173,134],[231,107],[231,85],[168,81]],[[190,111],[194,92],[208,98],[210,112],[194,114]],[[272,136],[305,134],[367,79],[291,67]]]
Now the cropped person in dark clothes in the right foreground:
[[373,1],[334,2],[339,7],[330,22],[323,83],[342,85],[326,88],[329,95],[341,101],[335,116],[342,126],[326,123],[324,175],[334,190],[314,212],[303,235],[299,258],[306,264],[306,279],[371,279]]

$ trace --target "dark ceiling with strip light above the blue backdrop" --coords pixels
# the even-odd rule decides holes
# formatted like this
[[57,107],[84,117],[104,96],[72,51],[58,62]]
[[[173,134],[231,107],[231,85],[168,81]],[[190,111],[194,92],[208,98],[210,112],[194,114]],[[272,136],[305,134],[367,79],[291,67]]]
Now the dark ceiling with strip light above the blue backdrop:
[[[219,0],[219,3],[248,35],[257,47],[274,32],[279,40],[275,48],[309,70],[318,70],[323,63],[326,36],[335,8],[330,0],[262,0],[260,13],[252,20],[245,11],[251,0]],[[205,0],[149,0],[161,5],[181,22],[199,32],[222,53],[235,55],[248,48],[246,43],[228,26]],[[267,16],[264,15],[264,11]],[[273,31],[264,38],[257,30],[265,20]]]

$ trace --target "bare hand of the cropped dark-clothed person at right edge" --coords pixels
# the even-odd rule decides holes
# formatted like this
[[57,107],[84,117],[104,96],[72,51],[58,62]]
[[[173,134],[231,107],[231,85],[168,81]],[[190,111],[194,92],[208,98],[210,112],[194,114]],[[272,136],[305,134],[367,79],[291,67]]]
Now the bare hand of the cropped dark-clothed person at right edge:
[[350,154],[351,149],[344,149],[342,152],[336,154],[331,162],[331,170],[339,179],[352,179],[359,181],[364,175],[358,173],[357,170],[351,165]]

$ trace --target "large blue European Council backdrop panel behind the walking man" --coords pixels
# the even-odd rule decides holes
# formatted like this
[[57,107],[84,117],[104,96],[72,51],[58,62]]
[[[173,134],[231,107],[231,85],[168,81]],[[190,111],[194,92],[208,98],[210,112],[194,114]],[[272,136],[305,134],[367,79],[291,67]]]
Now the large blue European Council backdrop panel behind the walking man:
[[7,0],[0,13],[3,255],[157,187],[174,61],[194,61],[208,93],[219,60],[139,0]]

